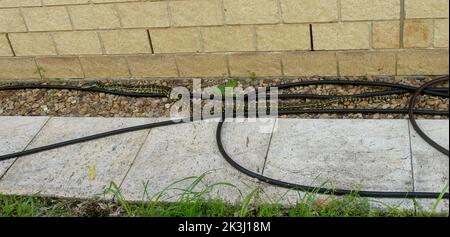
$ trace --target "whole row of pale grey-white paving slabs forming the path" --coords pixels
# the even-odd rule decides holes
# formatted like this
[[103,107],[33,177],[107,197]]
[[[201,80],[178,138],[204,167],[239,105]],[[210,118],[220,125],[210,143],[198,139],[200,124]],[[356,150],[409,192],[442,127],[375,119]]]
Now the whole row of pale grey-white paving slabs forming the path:
[[[22,150],[28,143],[28,148],[33,148],[164,120],[47,119],[0,117],[0,154]],[[414,131],[409,131],[406,120],[277,121],[226,123],[224,147],[250,170],[305,185],[325,183],[332,188],[381,191],[415,188],[416,191],[439,192],[448,181],[448,157],[434,151]],[[419,124],[432,138],[448,146],[448,121],[420,120]],[[121,185],[125,198],[139,201],[147,199],[143,198],[144,184],[147,184],[148,195],[152,196],[176,181],[208,172],[200,189],[223,181],[236,185],[245,196],[260,187],[263,190],[260,200],[288,205],[294,205],[304,196],[301,192],[287,192],[257,182],[232,168],[217,149],[216,126],[217,123],[202,121],[155,128],[22,157],[0,180],[0,193],[39,192],[48,196],[91,198],[101,195],[105,186],[115,182]],[[266,133],[261,133],[261,128]],[[270,128],[277,129],[271,133]],[[12,163],[0,163],[0,171],[4,173]],[[168,191],[163,200],[178,199],[180,189],[187,188],[193,181],[189,179],[173,186],[175,189]],[[210,194],[210,197],[231,202],[242,201],[236,189],[228,186],[217,186]],[[317,197],[327,200],[325,195]],[[418,202],[422,210],[430,211],[435,200]],[[377,199],[371,203],[380,208],[386,205],[414,208],[411,200]],[[441,203],[437,210],[448,212],[448,201]]]

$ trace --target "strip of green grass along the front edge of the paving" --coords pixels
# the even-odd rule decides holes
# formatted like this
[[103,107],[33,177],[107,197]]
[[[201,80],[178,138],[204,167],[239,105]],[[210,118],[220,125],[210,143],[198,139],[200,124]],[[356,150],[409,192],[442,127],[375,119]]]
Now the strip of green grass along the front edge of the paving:
[[[264,189],[247,186],[249,193],[243,195],[235,185],[228,182],[210,183],[209,172],[200,176],[189,176],[175,181],[158,192],[149,189],[145,182],[142,200],[130,202],[122,194],[120,187],[111,183],[102,200],[77,200],[45,198],[37,195],[14,196],[0,194],[0,216],[130,216],[130,217],[404,217],[442,216],[437,207],[442,202],[448,183],[441,196],[431,207],[431,212],[419,209],[402,210],[381,201],[363,198],[357,192],[342,197],[322,195],[318,189],[311,192],[286,190],[272,200],[272,195]],[[325,185],[325,184],[324,184]],[[238,194],[238,202],[232,204],[216,199],[217,188],[231,188]],[[216,193],[217,191],[217,193]],[[152,194],[153,193],[153,194]],[[113,200],[106,196],[112,194]],[[294,196],[289,194],[295,194]],[[289,198],[296,199],[286,205]],[[107,198],[108,197],[108,198]],[[297,197],[297,198],[296,198]],[[170,202],[168,200],[170,199]],[[384,208],[376,209],[373,203],[381,203]],[[417,203],[417,202],[416,202]],[[420,205],[416,208],[419,208]],[[446,214],[448,215],[448,214]]]

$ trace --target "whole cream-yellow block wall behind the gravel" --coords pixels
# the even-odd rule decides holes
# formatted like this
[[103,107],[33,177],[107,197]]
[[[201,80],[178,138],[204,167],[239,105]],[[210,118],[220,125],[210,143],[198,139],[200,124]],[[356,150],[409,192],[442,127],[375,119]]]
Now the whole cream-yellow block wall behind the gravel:
[[0,0],[0,79],[441,75],[448,0]]

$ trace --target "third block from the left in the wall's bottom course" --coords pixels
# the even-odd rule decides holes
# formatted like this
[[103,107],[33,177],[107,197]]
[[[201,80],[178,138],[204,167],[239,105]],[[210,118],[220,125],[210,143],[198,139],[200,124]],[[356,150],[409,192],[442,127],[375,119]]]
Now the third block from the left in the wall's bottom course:
[[87,78],[129,78],[127,61],[121,56],[80,57]]

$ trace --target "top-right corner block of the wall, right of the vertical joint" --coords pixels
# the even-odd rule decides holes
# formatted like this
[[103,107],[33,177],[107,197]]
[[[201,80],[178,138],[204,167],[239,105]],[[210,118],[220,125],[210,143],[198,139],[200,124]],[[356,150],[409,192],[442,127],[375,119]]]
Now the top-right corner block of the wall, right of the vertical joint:
[[448,0],[405,0],[406,18],[448,18]]

